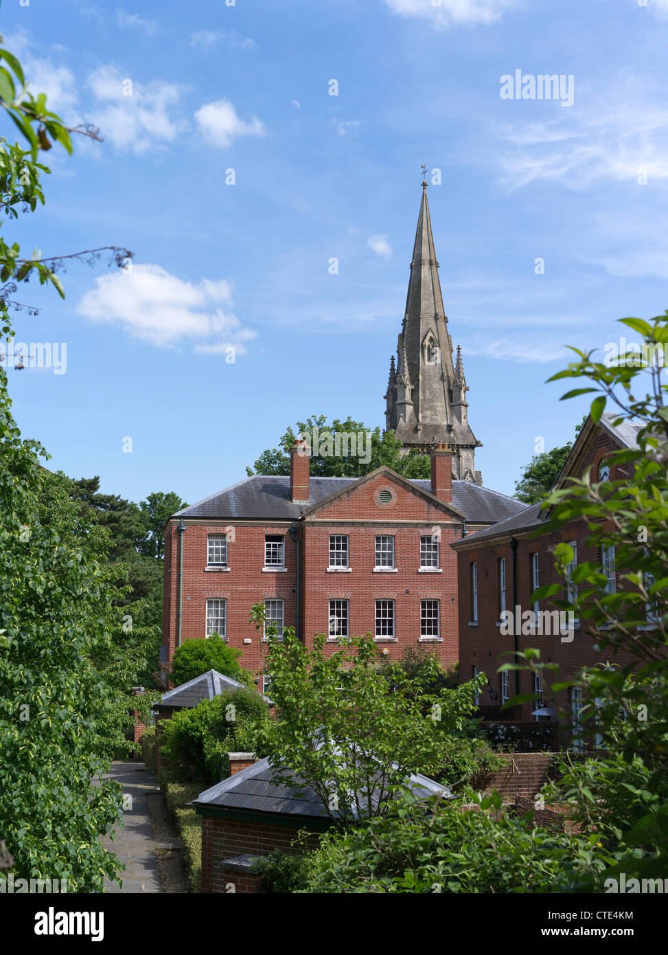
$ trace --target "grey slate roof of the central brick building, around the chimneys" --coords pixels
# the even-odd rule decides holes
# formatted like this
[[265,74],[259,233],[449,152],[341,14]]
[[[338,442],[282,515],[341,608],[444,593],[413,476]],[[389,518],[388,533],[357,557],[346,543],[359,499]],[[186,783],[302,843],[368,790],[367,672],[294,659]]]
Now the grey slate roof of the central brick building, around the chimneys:
[[[240,480],[210,498],[177,511],[173,517],[211,518],[215,520],[299,520],[307,507],[344,491],[357,477],[311,477],[310,498],[307,503],[290,499],[290,478],[254,475]],[[421,491],[430,491],[429,480],[409,480]],[[452,481],[452,506],[466,520],[473,523],[491,523],[504,520],[526,504],[505,494],[473,484],[468,480]]]

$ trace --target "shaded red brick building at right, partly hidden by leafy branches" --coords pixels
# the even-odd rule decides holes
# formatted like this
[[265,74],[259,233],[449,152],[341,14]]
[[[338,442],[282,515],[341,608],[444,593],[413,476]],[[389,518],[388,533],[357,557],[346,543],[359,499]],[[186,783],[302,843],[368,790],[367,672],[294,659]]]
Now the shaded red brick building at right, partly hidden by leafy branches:
[[[616,415],[603,415],[596,425],[590,418],[582,427],[574,442],[570,456],[566,460],[555,487],[560,486],[569,476],[581,477],[587,468],[592,468],[592,480],[604,480],[606,476],[615,480],[622,477],[617,467],[611,468],[606,458],[613,451],[637,446],[637,428],[625,422],[614,427]],[[540,605],[531,604],[531,595],[539,585],[560,583],[553,567],[553,548],[559,541],[567,541],[574,547],[574,563],[592,561],[603,566],[609,577],[611,592],[619,585],[615,567],[615,554],[612,548],[606,553],[595,551],[587,545],[590,536],[584,521],[574,521],[566,529],[535,537],[536,531],[547,520],[540,504],[533,504],[524,511],[502,520],[498,524],[456,541],[452,547],[457,552],[459,562],[459,654],[460,679],[465,682],[471,676],[482,671],[489,678],[489,684],[479,698],[480,708],[486,716],[499,716],[500,719],[537,720],[549,719],[550,715],[536,714],[536,710],[569,708],[577,722],[580,700],[577,692],[567,697],[566,691],[554,701],[545,699],[545,707],[535,702],[525,703],[515,711],[500,713],[501,705],[516,693],[543,692],[532,673],[515,673],[497,669],[502,663],[511,663],[509,651],[538,647],[541,659],[558,664],[565,678],[584,665],[605,663],[607,657],[601,654],[595,640],[586,636],[574,621],[572,630],[566,627],[551,635],[536,632],[536,628],[525,626],[530,632],[502,633],[503,611],[513,611],[519,607],[520,613],[533,610],[541,613],[536,617],[543,631],[554,629],[547,626],[546,611],[555,608],[548,601]],[[514,621],[513,621],[514,625]],[[518,626],[517,629],[520,629]],[[511,627],[511,631],[515,626]],[[616,663],[626,664],[629,658],[618,653]],[[516,682],[515,682],[516,681]]]

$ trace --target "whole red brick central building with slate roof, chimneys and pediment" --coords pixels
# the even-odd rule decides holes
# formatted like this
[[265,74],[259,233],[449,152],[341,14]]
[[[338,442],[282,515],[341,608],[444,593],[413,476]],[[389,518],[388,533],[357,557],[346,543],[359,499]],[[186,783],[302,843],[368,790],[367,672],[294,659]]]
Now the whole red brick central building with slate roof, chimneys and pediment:
[[431,480],[383,467],[360,478],[309,477],[303,442],[290,477],[248,477],[185,508],[165,529],[163,663],[184,640],[218,632],[261,673],[264,602],[309,644],[324,633],[373,634],[392,659],[406,647],[459,658],[457,557],[450,544],[525,509],[470,480],[452,480],[435,448]]

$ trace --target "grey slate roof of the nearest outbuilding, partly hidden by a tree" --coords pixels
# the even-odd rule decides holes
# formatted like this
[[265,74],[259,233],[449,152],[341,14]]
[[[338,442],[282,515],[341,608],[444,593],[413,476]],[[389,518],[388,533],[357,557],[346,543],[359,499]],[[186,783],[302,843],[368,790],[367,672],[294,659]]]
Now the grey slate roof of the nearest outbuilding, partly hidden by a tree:
[[[298,784],[302,783],[299,777],[296,777],[295,781]],[[450,796],[447,787],[419,773],[409,776],[408,787],[418,798],[427,799],[428,796],[436,794]],[[191,805],[202,808],[217,806],[282,816],[310,818],[329,816],[322,800],[310,786],[304,784],[303,789],[291,789],[286,785],[276,785],[272,782],[271,765],[266,758],[258,760],[240,773],[228,776],[211,789],[200,793]]]

